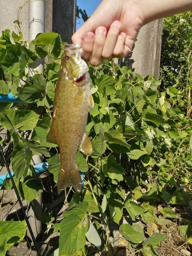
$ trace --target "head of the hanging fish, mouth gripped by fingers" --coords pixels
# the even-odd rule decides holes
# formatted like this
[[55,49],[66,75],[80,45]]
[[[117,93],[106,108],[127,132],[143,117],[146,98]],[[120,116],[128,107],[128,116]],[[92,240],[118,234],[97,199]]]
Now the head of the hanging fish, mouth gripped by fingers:
[[61,69],[66,73],[66,78],[74,82],[86,79],[89,68],[82,58],[81,45],[66,45],[61,56]]

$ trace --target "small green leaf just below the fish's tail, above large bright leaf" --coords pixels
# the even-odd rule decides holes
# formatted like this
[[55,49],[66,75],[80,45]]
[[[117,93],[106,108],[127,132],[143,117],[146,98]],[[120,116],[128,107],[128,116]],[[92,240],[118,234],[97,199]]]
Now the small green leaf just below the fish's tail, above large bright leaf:
[[83,202],[75,205],[73,208],[63,211],[62,215],[64,217],[67,217],[72,214],[77,215],[83,221],[84,218],[86,217],[88,206],[89,206],[88,202],[83,201]]

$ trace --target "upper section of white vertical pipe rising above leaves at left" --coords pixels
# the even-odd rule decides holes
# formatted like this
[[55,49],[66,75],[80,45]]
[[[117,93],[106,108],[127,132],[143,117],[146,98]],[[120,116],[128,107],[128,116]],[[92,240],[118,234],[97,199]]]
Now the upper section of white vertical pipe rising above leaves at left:
[[[29,0],[29,42],[35,39],[38,33],[45,33],[45,0]],[[37,58],[30,68],[39,69],[41,74],[44,74],[44,59]]]

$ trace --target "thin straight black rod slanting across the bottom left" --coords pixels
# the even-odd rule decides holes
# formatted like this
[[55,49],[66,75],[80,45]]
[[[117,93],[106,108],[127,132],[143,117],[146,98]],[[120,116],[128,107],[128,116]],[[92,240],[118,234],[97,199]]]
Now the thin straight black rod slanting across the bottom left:
[[0,145],[0,151],[1,151],[1,153],[2,153],[2,156],[3,156],[4,162],[5,162],[6,168],[7,168],[8,173],[9,173],[9,176],[10,176],[10,178],[11,178],[11,182],[12,182],[12,184],[13,184],[13,188],[14,188],[14,190],[15,190],[15,194],[16,194],[16,196],[17,196],[18,202],[19,202],[19,204],[20,204],[20,208],[22,208],[22,210],[23,210],[24,218],[25,218],[25,220],[26,220],[26,223],[27,223],[29,232],[30,232],[30,234],[31,234],[31,238],[32,238],[32,240],[33,240],[35,249],[36,249],[36,251],[37,251],[38,256],[41,256],[40,251],[39,251],[39,248],[38,248],[38,244],[37,244],[37,242],[36,242],[36,240],[35,240],[33,231],[32,231],[32,229],[31,229],[31,225],[30,225],[30,223],[29,223],[29,221],[28,221],[28,218],[27,218],[27,215],[26,215],[26,213],[25,213],[25,209],[24,209],[22,200],[20,200],[20,197],[19,197],[19,194],[18,194],[16,185],[15,185],[15,182],[14,182],[13,177],[12,177],[12,175],[11,175],[11,171],[10,171],[9,166],[8,166],[8,164],[7,164],[7,160],[6,160],[6,158],[5,158],[5,155],[4,155],[4,152],[3,152],[3,149],[2,149],[2,146],[1,146],[1,145]]

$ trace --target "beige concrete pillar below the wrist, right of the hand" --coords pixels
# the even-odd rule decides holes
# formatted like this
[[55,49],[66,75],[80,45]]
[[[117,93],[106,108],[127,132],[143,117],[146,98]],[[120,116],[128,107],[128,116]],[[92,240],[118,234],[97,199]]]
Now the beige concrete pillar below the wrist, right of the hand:
[[127,66],[142,77],[153,74],[159,77],[161,57],[161,35],[163,19],[154,20],[143,26],[138,34],[133,52],[124,58]]

